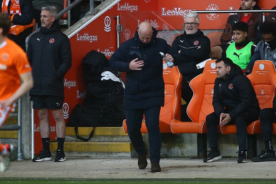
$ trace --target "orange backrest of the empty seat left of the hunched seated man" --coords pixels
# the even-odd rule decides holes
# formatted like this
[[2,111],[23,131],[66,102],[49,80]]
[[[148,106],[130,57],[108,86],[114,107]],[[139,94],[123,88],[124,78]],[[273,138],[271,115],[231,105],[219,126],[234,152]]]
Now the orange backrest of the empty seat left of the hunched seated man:
[[191,80],[193,98],[187,107],[187,114],[193,122],[205,121],[206,116],[214,112],[212,102],[216,77],[216,60],[209,60],[202,74]]

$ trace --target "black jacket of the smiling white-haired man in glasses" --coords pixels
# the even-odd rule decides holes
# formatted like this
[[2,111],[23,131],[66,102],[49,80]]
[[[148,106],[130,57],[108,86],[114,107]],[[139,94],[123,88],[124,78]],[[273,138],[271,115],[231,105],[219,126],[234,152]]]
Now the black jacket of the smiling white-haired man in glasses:
[[[198,49],[198,47],[200,48]],[[179,67],[182,75],[199,75],[203,68],[197,69],[196,64],[210,58],[210,40],[204,36],[203,32],[198,29],[194,34],[183,34],[175,38],[172,45],[173,51],[180,51],[181,59],[175,64]]]

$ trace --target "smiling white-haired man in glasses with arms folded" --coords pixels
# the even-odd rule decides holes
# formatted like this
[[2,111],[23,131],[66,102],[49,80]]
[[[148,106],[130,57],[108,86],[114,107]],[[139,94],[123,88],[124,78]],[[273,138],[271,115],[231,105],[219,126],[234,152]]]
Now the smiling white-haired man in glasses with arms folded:
[[210,40],[198,29],[199,17],[197,13],[189,13],[184,18],[185,32],[173,41],[172,49],[178,51],[182,59],[178,64],[183,76],[182,98],[187,104],[193,97],[193,91],[189,82],[203,72],[203,68],[197,69],[196,64],[209,58]]

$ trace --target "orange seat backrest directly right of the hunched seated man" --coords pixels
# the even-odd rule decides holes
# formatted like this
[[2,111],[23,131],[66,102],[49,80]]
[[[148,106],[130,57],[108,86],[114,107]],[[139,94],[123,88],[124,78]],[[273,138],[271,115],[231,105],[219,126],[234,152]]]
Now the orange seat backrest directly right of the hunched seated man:
[[261,109],[272,108],[276,87],[276,70],[272,61],[258,60],[247,76],[252,83]]

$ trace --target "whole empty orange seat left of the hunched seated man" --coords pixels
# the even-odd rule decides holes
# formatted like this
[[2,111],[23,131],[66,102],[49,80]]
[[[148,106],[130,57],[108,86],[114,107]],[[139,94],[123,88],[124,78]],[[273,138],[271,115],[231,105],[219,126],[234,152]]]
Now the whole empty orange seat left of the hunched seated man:
[[217,77],[215,61],[207,61],[203,73],[193,78],[190,82],[193,98],[187,107],[187,114],[193,122],[173,120],[170,125],[173,133],[198,134],[199,158],[203,158],[207,153],[206,116],[214,112],[212,101],[214,81]]

